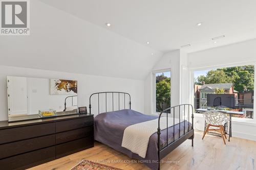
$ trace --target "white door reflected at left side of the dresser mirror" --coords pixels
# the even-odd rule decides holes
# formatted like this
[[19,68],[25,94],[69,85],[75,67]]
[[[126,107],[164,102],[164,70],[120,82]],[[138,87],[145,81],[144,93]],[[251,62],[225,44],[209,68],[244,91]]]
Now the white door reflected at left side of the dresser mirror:
[[9,115],[28,113],[27,78],[8,78],[8,112]]

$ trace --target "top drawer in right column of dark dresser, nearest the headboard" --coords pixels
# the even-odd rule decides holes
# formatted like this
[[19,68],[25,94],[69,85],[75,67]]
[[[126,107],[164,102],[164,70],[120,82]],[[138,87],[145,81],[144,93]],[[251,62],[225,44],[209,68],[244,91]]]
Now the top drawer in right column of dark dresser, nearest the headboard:
[[56,133],[93,126],[93,116],[56,122]]

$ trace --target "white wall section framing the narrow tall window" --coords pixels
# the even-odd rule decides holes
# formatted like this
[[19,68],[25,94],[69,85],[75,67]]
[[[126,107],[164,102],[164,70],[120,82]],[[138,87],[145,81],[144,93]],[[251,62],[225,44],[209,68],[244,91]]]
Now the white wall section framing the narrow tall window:
[[175,106],[180,104],[180,50],[176,50],[164,54],[152,69],[153,71],[150,72],[145,79],[145,114],[152,114],[155,112],[153,108],[153,72],[168,68],[170,68],[172,84],[170,105]]

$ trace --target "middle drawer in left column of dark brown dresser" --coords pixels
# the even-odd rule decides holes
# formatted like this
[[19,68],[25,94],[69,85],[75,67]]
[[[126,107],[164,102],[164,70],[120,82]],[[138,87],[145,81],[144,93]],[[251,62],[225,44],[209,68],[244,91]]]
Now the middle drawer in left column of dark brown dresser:
[[55,135],[42,136],[0,145],[0,159],[55,145]]

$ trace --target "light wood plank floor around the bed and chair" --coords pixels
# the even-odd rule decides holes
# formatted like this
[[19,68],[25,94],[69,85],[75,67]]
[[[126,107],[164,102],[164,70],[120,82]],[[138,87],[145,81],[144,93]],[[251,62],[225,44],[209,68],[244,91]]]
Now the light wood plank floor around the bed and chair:
[[[256,169],[256,141],[240,138],[231,138],[224,145],[222,138],[206,135],[204,140],[202,132],[195,132],[194,147],[191,140],[185,141],[164,160],[176,161],[176,163],[162,163],[161,169]],[[95,147],[84,150],[45,164],[30,168],[30,170],[46,169],[70,169],[78,161],[101,160],[106,165],[121,169],[148,169],[142,163],[105,163],[112,161],[132,160],[104,144],[95,143]]]

